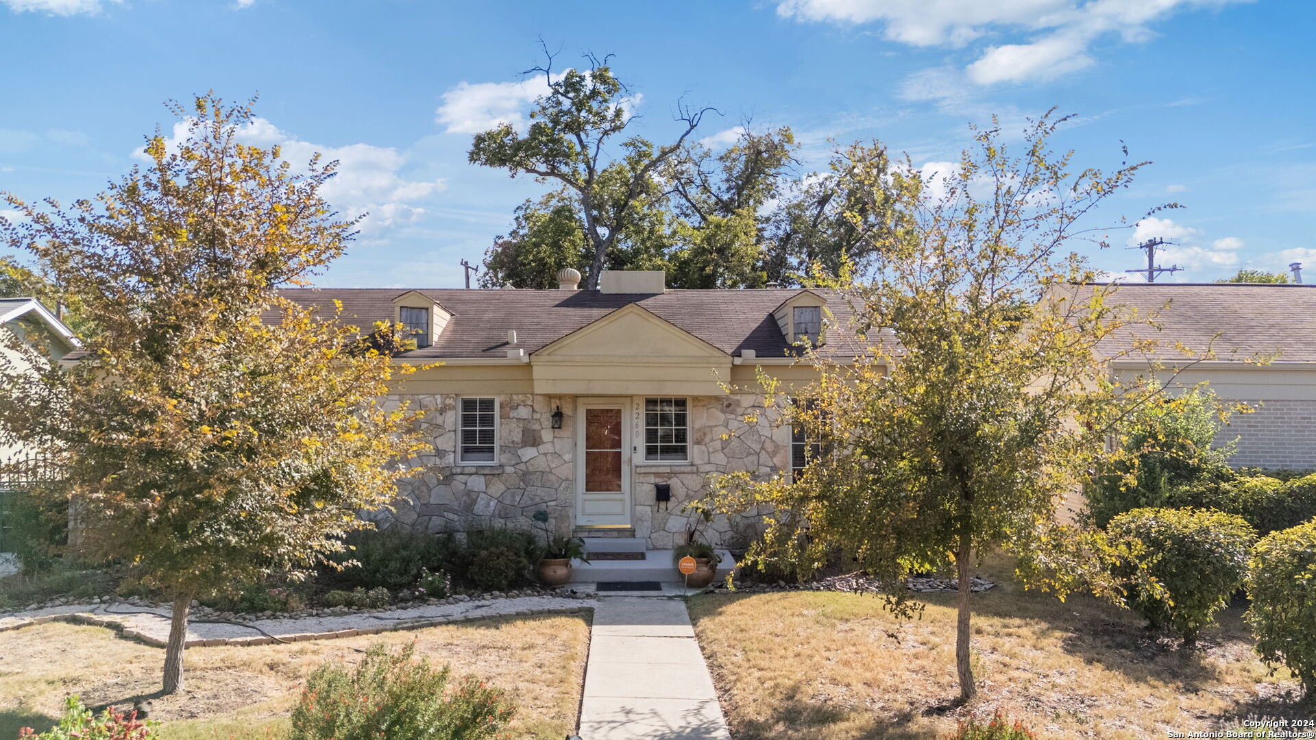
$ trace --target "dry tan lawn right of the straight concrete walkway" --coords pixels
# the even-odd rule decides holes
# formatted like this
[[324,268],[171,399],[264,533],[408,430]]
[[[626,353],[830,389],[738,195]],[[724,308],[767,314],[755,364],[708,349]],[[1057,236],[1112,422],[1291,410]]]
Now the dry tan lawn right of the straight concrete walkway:
[[709,594],[690,611],[737,740],[936,737],[998,710],[1040,737],[1101,739],[1316,714],[1253,654],[1238,607],[1183,652],[1129,612],[996,581],[975,594],[980,695],[957,708],[953,594],[920,598],[913,621],[838,593]]

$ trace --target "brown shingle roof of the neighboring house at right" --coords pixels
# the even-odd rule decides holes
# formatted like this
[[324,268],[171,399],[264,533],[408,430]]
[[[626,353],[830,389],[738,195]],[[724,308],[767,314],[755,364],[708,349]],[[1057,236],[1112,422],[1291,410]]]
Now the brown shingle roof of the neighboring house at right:
[[1155,313],[1161,328],[1117,332],[1108,352],[1132,346],[1133,337],[1159,344],[1159,359],[1182,359],[1175,342],[1219,359],[1242,361],[1279,352],[1274,362],[1316,362],[1316,284],[1124,283],[1111,305]]

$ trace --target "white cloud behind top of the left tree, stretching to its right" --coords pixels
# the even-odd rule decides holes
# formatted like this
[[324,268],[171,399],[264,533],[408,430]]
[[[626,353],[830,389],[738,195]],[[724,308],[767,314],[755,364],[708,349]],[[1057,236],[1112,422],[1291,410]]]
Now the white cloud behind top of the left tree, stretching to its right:
[[[178,121],[166,137],[166,146],[176,150],[187,137],[190,121]],[[320,161],[338,162],[337,175],[320,188],[324,196],[343,217],[362,213],[363,232],[379,230],[396,224],[418,220],[426,213],[420,205],[446,186],[443,180],[411,180],[400,172],[407,166],[407,155],[391,146],[349,144],[324,146],[301,141],[279,129],[266,119],[254,119],[238,132],[238,140],[253,146],[279,145],[280,154],[301,167],[318,153]],[[137,159],[147,159],[142,150],[133,153]]]

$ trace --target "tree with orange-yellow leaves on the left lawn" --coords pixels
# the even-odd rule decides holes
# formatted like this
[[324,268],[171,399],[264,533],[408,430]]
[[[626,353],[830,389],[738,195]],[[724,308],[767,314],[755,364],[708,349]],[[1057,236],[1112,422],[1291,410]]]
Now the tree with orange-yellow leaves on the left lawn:
[[412,413],[379,402],[396,371],[387,353],[278,295],[355,233],[320,196],[334,163],[295,167],[242,144],[250,104],[207,95],[171,111],[187,136],[157,130],[150,163],[93,200],[7,196],[22,219],[4,240],[99,330],[67,370],[0,363],[0,441],[57,463],[37,494],[70,503],[80,554],[170,595],[164,693],[182,686],[193,598],[341,550],[368,525],[357,512],[395,496],[417,445]]

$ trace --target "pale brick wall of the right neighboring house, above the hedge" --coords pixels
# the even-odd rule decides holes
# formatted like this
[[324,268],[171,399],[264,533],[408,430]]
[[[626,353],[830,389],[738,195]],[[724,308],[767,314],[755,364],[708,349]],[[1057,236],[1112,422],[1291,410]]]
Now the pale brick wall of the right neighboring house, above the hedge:
[[1316,467],[1316,400],[1248,402],[1253,413],[1234,413],[1219,438],[1238,437],[1233,466]]

